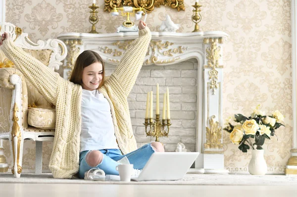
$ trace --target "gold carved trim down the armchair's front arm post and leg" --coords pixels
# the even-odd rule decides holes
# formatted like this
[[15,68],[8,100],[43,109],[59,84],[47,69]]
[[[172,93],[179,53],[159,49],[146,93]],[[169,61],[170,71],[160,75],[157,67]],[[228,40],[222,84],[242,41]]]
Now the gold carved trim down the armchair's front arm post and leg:
[[[21,136],[21,129],[19,127],[19,124],[17,123],[17,121],[19,120],[19,118],[17,117],[18,111],[19,111],[19,109],[17,107],[17,104],[14,103],[13,115],[12,115],[13,124],[12,124],[12,130],[11,130],[11,143],[12,143],[13,159],[15,159],[15,154],[17,156],[17,158],[16,158],[17,173],[20,174],[22,172],[22,167],[19,165],[22,136]],[[17,150],[14,150],[14,137],[17,137]],[[15,151],[17,151],[17,152],[15,153]],[[11,168],[11,172],[12,172],[12,174],[14,174],[14,163]]]

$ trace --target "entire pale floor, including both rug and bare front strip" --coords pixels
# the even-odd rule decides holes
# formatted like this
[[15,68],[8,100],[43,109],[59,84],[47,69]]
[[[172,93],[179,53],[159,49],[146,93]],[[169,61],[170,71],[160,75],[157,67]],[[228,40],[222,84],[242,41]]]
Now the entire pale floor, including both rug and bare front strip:
[[0,197],[297,197],[297,176],[187,174],[178,181],[115,182],[13,178],[0,174]]

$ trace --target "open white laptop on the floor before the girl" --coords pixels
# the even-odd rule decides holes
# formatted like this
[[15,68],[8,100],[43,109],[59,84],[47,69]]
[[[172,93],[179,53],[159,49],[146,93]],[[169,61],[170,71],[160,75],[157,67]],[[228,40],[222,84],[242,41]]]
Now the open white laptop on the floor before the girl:
[[174,181],[182,179],[199,153],[153,153],[138,177],[133,181]]

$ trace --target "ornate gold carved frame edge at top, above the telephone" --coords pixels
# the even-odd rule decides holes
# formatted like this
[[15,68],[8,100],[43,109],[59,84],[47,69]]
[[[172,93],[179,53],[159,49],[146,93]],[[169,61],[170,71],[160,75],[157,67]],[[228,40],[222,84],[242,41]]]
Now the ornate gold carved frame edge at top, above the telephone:
[[144,8],[147,13],[150,13],[155,7],[160,7],[160,5],[170,6],[178,11],[185,11],[184,0],[104,0],[104,2],[104,11],[108,12],[114,7],[132,6],[136,8]]

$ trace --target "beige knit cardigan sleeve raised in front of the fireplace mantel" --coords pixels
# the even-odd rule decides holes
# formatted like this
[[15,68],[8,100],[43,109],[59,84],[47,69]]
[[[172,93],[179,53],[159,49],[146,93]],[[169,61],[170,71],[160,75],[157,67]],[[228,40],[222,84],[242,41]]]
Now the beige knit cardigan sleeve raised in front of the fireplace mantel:
[[151,39],[148,27],[139,30],[139,38],[135,39],[122,57],[114,73],[108,79],[111,87],[128,96],[135,84],[140,69],[145,61],[148,44]]

